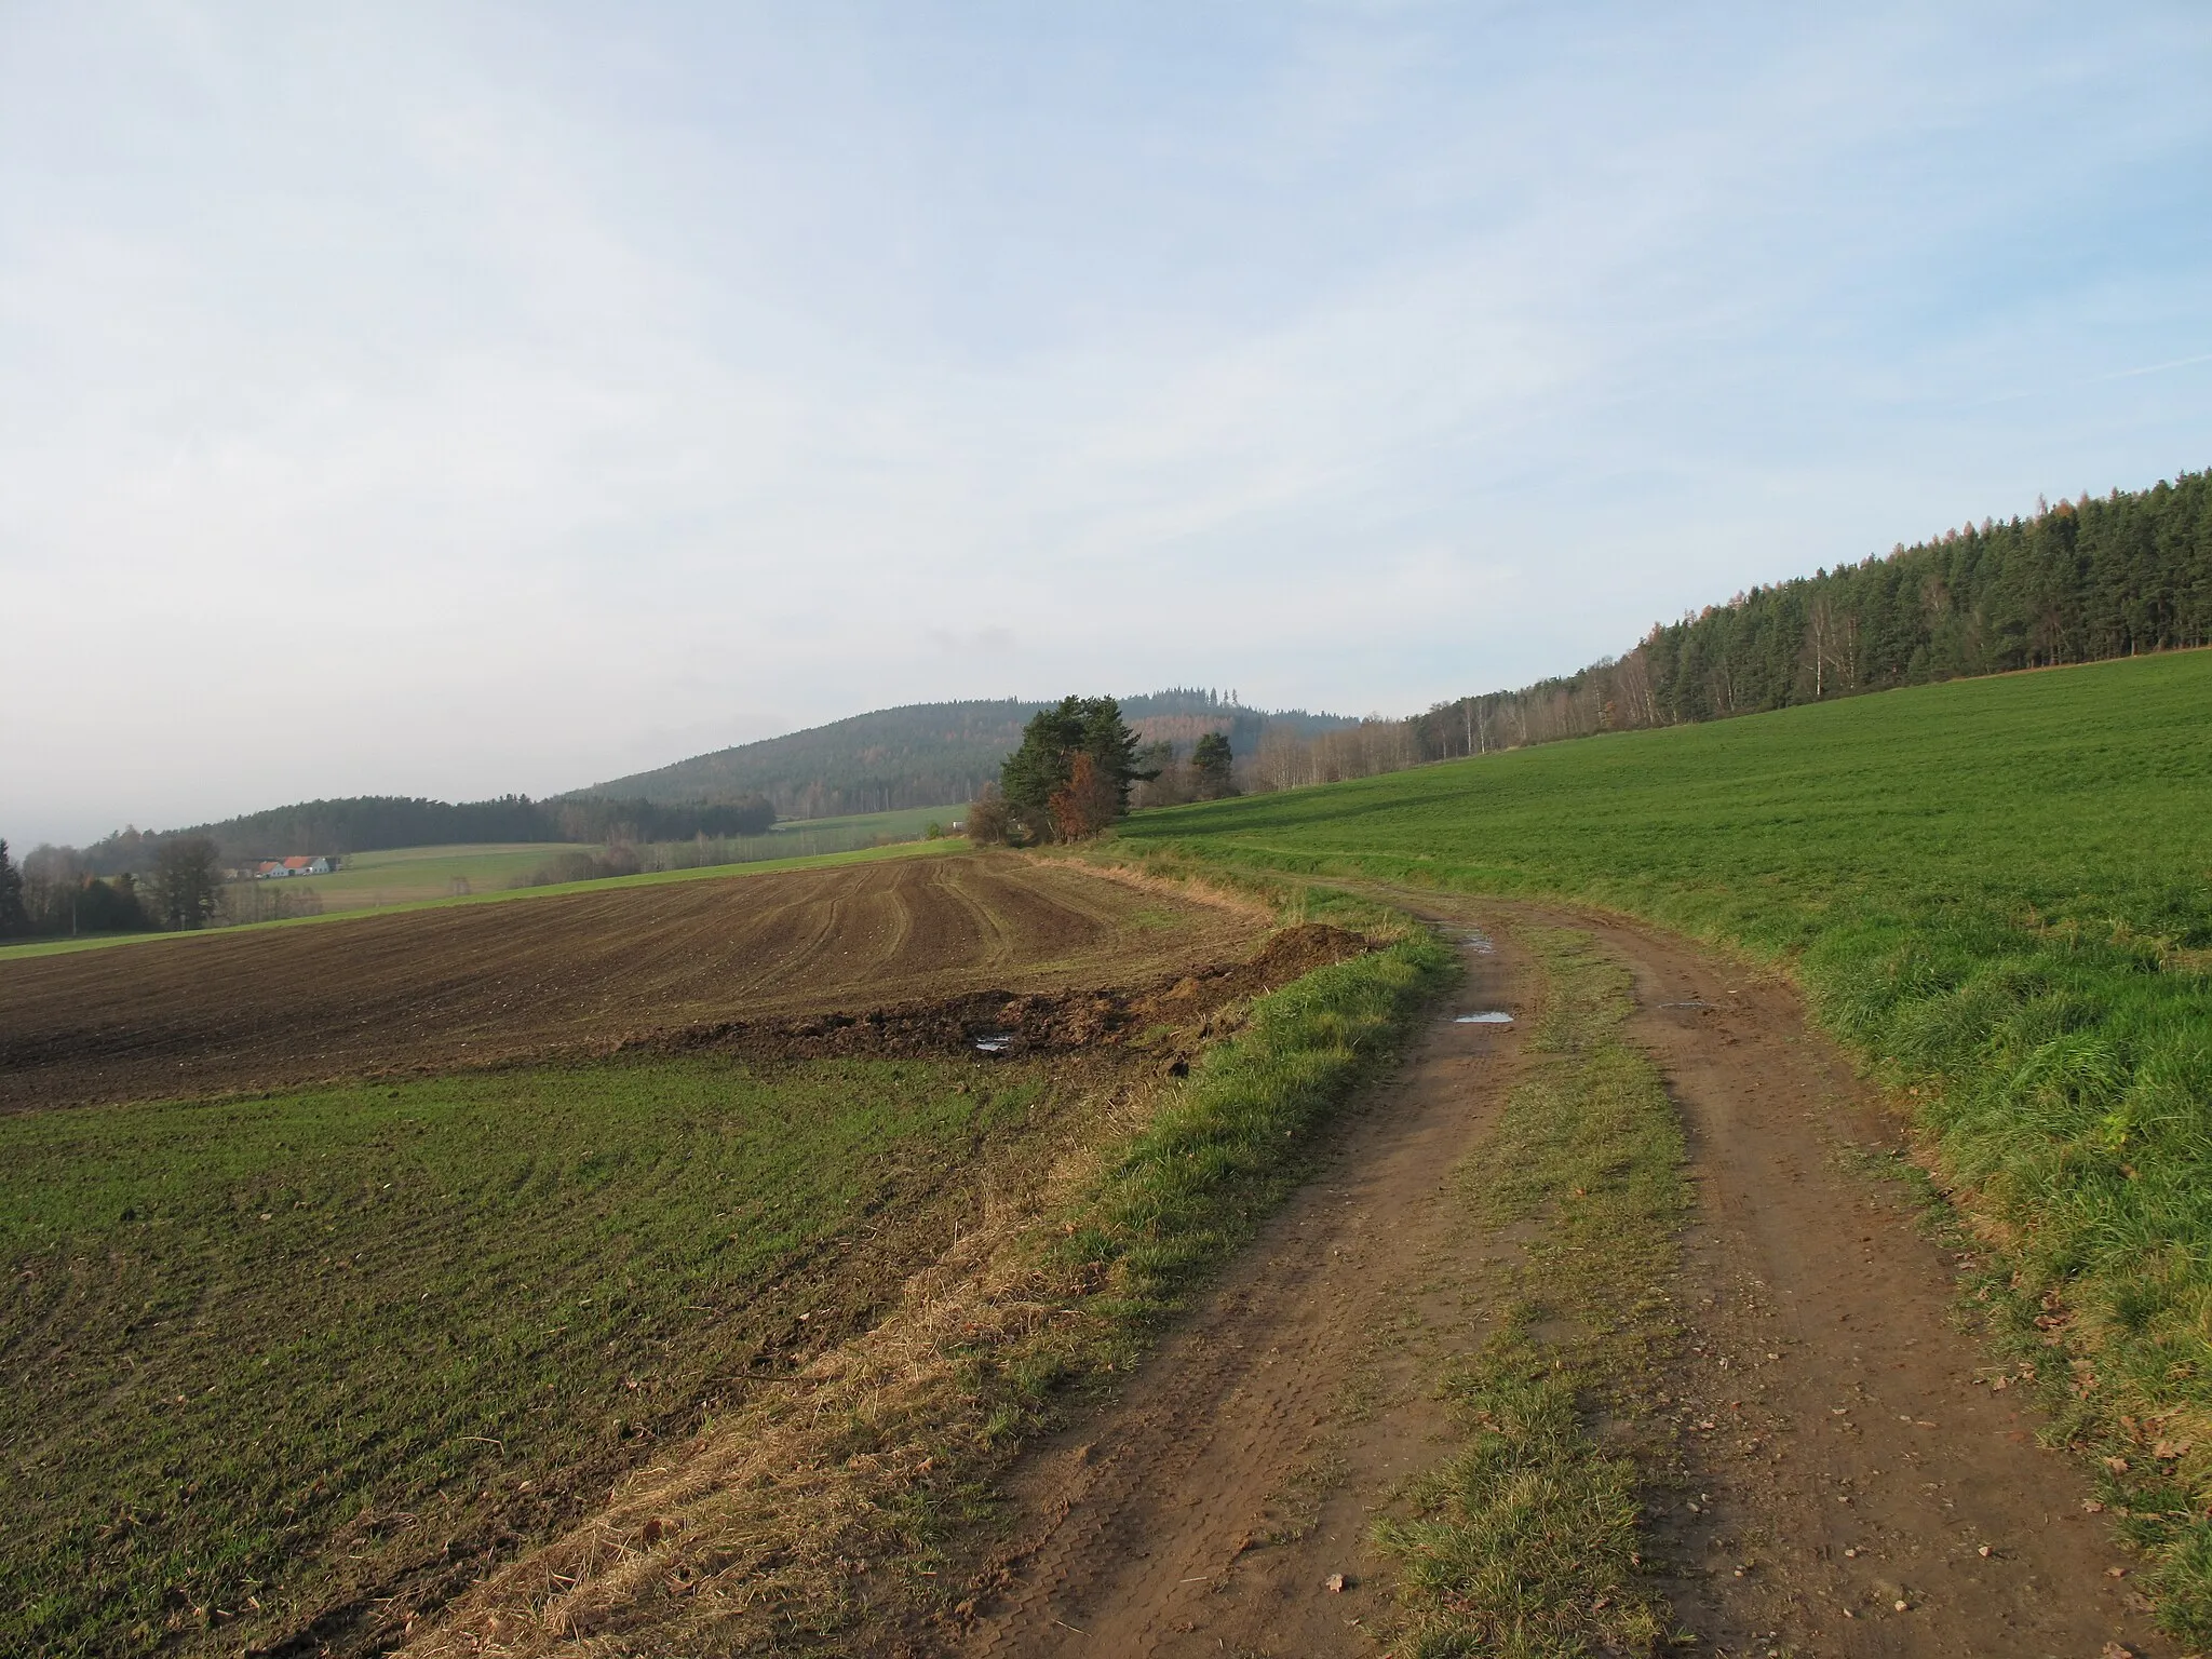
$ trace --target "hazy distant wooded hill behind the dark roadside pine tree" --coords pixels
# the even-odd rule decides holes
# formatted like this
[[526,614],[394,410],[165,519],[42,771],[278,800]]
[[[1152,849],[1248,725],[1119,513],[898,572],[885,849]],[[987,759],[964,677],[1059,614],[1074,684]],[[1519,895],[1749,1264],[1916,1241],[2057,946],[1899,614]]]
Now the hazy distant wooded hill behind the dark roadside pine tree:
[[[779,818],[956,805],[973,801],[998,776],[1000,761],[1022,741],[1022,726],[1040,708],[1042,701],[1015,697],[878,708],[805,732],[608,779],[577,794],[624,801],[765,796]],[[1121,712],[1141,737],[1168,739],[1181,750],[1206,732],[1228,732],[1239,754],[1256,750],[1270,726],[1298,737],[1356,726],[1340,714],[1245,708],[1234,695],[1192,688],[1124,697]]]

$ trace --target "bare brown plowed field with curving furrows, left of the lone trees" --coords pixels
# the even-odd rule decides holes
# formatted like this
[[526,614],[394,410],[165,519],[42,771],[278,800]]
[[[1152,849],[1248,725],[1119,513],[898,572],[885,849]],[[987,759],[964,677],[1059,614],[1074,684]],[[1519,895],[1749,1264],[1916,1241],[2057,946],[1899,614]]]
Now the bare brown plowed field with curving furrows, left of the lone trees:
[[0,969],[0,1110],[1104,987],[1241,956],[1256,936],[1223,909],[971,854],[164,940]]

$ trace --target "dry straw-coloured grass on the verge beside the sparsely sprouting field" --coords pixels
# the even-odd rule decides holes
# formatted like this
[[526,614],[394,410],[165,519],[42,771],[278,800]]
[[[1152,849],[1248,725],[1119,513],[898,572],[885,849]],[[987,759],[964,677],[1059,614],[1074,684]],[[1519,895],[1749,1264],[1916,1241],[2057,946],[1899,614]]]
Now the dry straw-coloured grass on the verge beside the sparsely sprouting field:
[[[1106,1146],[1157,1086],[1110,1104]],[[1099,1179],[1099,1144],[1068,1144],[1022,1199],[907,1281],[898,1310],[787,1387],[708,1425],[622,1482],[560,1542],[462,1597],[409,1655],[743,1652],[830,1635],[898,1590],[916,1597],[931,1522],[973,1506],[1040,1385],[1106,1336],[1042,1265],[1037,1232]]]

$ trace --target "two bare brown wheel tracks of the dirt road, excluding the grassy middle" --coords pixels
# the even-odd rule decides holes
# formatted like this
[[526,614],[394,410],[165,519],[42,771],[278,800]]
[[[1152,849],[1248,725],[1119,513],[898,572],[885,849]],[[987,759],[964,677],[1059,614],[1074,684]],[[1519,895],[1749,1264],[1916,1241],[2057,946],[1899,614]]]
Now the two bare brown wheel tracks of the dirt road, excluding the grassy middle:
[[[1542,987],[1513,927],[1531,920],[1635,973],[1630,1035],[1668,1077],[1699,1192],[1686,1336],[1650,1402],[1681,1425],[1679,1464],[1648,1491],[1657,1582],[1699,1652],[2172,1652],[2081,1473],[2037,1449],[2024,1394],[1986,1385],[2006,1367],[1953,1325],[1955,1261],[1867,1170],[1893,1119],[1785,987],[1646,929],[1394,898],[1495,940],[1453,1013],[1526,1015]],[[1385,1650],[1369,1526],[1444,1458],[1436,1371],[1480,1343],[1517,1250],[1464,1225],[1449,1177],[1480,1175],[1524,1024],[1440,1018],[1181,1334],[1040,1449],[962,1652]]]

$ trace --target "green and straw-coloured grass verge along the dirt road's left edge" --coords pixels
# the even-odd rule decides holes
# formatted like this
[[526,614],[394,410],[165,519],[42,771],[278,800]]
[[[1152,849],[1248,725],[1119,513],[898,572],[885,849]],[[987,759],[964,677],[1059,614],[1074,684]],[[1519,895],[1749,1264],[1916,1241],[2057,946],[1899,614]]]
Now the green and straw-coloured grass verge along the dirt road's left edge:
[[467,1595],[422,1655],[849,1652],[865,1619],[956,1628],[991,1480],[1296,1183],[1336,1106],[1455,971],[1405,929],[1259,998],[1183,1079],[1124,1082],[1071,1144],[790,1391],[706,1427]]

